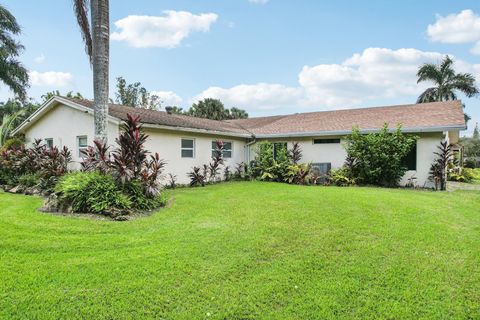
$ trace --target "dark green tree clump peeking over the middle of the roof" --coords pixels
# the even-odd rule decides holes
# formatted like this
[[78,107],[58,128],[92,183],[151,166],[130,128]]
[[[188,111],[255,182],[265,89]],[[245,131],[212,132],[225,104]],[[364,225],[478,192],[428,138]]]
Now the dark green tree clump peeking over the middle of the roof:
[[226,109],[220,100],[213,98],[205,98],[197,103],[194,103],[186,112],[186,114],[198,118],[207,118],[212,120],[248,118],[248,113],[245,110],[235,107],[231,110]]

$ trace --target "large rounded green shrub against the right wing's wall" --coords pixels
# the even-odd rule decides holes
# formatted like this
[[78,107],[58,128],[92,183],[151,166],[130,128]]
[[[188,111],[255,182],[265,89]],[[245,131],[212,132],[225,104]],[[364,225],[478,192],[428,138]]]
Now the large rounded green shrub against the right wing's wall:
[[379,132],[370,134],[361,134],[354,128],[346,141],[356,182],[394,187],[407,171],[403,161],[415,145],[416,137],[403,134],[401,126],[390,132],[385,124]]

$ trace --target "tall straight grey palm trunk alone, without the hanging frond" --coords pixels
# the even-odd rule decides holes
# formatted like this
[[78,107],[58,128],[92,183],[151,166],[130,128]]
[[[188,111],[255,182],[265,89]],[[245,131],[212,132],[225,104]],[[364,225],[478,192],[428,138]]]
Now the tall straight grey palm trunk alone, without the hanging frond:
[[93,42],[93,107],[95,140],[107,143],[108,63],[110,46],[109,0],[91,0]]

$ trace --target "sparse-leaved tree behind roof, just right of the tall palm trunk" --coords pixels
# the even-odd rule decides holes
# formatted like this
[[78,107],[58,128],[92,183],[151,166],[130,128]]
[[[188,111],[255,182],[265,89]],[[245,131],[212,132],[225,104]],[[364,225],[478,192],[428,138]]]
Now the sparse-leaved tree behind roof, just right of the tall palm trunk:
[[115,102],[134,108],[158,110],[161,107],[160,98],[151,94],[140,82],[127,84],[123,77],[117,78]]

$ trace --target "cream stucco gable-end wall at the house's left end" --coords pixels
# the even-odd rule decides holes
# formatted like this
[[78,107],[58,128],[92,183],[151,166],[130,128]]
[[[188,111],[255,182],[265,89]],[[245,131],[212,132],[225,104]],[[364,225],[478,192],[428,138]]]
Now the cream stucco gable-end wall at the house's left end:
[[[79,167],[77,137],[87,136],[88,144],[93,144],[94,129],[92,115],[64,105],[57,105],[43,115],[25,132],[27,144],[35,139],[53,139],[53,144],[72,151],[73,168]],[[108,124],[108,141],[114,143],[118,136],[118,124]]]

